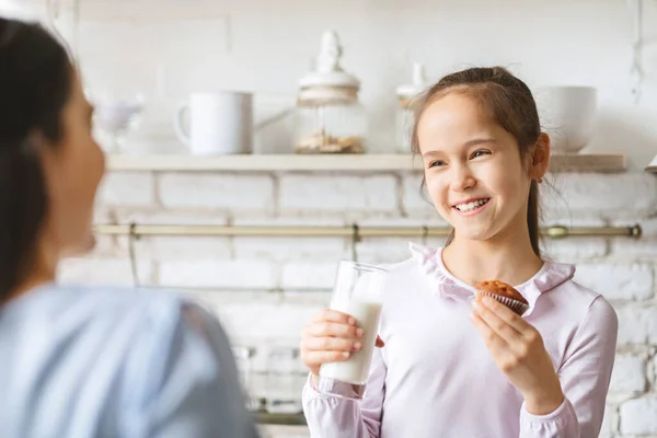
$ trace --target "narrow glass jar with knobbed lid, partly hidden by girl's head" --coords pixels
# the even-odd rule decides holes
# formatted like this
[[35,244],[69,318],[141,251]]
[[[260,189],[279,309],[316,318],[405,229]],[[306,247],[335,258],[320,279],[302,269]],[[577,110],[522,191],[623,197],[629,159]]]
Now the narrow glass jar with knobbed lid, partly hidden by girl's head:
[[412,83],[400,85],[396,89],[397,108],[395,115],[395,151],[397,153],[411,153],[411,137],[413,134],[413,124],[415,123],[415,112],[413,111],[412,104],[427,87],[427,81],[424,74],[424,66],[422,64],[413,64],[412,79]]

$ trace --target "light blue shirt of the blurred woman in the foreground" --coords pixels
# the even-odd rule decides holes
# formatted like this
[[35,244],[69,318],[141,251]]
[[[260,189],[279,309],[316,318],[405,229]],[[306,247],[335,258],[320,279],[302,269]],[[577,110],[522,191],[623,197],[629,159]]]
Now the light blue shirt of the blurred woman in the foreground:
[[0,308],[3,438],[257,437],[228,338],[197,304],[47,285]]

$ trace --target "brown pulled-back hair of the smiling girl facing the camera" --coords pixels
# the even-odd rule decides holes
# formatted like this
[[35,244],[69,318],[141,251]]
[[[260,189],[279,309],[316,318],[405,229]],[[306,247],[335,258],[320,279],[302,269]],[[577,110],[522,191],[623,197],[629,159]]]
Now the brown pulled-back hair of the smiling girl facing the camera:
[[[463,93],[475,100],[504,129],[518,141],[525,160],[541,135],[539,113],[531,91],[525,82],[503,67],[470,68],[446,76],[430,87],[416,103],[412,148],[419,153],[417,125],[425,108],[448,93]],[[423,182],[424,186],[424,182]],[[532,180],[529,189],[527,224],[533,252],[540,257],[539,185]],[[452,230],[447,243],[454,238]]]

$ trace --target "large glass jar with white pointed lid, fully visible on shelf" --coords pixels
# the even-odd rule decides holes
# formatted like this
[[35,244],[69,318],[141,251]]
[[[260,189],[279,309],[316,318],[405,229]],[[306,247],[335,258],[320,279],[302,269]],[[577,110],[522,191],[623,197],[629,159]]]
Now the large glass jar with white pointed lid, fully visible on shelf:
[[337,34],[322,35],[315,69],[300,81],[295,152],[364,153],[367,114],[358,101],[360,81],[341,67]]

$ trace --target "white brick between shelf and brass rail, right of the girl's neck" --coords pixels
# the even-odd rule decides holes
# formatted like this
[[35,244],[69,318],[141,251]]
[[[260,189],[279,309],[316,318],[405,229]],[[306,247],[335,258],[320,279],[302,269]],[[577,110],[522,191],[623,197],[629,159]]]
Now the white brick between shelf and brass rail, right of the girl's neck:
[[[561,173],[554,183],[558,194],[546,191],[551,209],[565,214],[627,218],[657,211],[657,178],[646,173],[600,174]],[[600,201],[604,199],[604,201]]]

